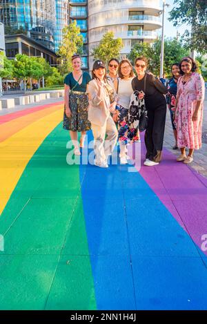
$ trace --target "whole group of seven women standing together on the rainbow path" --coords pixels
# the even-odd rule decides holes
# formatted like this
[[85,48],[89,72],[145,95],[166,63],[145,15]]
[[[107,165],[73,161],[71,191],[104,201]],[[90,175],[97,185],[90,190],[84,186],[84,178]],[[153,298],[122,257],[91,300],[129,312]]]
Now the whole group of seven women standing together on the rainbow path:
[[[137,57],[134,75],[128,59],[117,59],[106,66],[101,60],[92,67],[92,79],[81,70],[81,57],[73,55],[73,70],[65,79],[65,108],[63,128],[70,131],[75,155],[81,155],[86,131],[92,129],[95,165],[107,168],[110,155],[119,140],[120,162],[128,160],[127,143],[139,141],[139,116],[135,106],[130,106],[133,93],[145,103],[148,126],[144,140],[146,166],[161,161],[166,121],[166,99],[170,109],[175,135],[174,149],[181,150],[177,161],[193,161],[193,150],[201,147],[201,125],[204,102],[204,79],[196,72],[196,64],[184,57],[180,64],[172,65],[172,78],[164,86],[160,80],[147,73],[148,60]],[[166,95],[166,97],[165,97]],[[81,132],[80,143],[77,132]],[[186,148],[189,149],[186,155]]]

